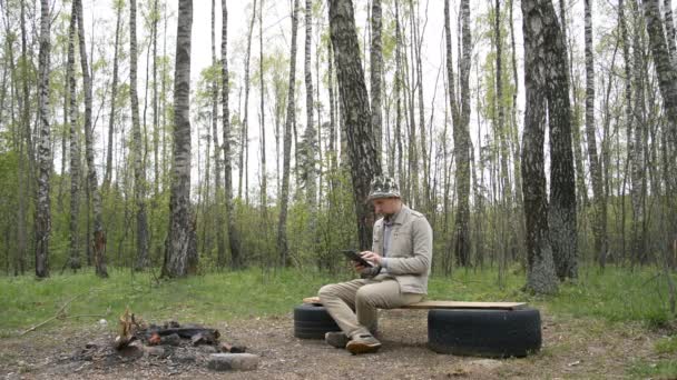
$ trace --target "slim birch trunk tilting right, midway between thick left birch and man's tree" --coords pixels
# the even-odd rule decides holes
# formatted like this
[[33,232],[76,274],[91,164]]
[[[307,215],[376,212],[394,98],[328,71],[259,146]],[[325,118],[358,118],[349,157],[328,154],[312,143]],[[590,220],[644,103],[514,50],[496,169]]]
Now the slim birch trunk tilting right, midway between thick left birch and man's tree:
[[290,202],[290,161],[292,158],[292,127],[295,122],[294,86],[296,82],[296,31],[298,29],[298,0],[294,0],[292,11],[292,52],[290,56],[290,87],[287,94],[287,117],[284,123],[282,193],[279,194],[279,220],[277,223],[277,252],[282,266],[290,263],[287,246],[287,204]]

